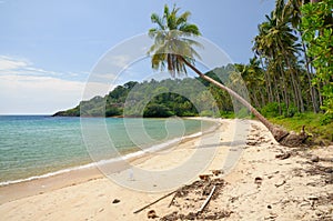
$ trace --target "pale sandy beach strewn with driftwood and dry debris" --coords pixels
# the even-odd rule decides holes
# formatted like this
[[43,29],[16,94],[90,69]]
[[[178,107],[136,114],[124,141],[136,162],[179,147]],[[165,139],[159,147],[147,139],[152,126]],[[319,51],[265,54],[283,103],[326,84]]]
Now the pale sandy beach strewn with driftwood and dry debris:
[[[91,168],[1,187],[1,220],[333,220],[333,147],[285,148],[258,121],[216,121],[214,131],[118,172]],[[200,188],[212,199],[193,217],[208,198]]]

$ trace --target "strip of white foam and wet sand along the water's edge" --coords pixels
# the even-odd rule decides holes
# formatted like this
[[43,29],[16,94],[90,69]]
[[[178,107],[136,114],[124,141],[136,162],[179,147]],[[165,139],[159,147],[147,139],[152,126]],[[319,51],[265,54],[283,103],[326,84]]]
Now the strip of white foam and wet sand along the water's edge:
[[115,173],[121,170],[125,170],[125,168],[122,168],[123,165],[121,163],[121,161],[123,160],[134,164],[138,162],[142,162],[143,160],[150,158],[150,153],[164,151],[170,148],[172,149],[178,144],[199,139],[206,133],[212,133],[221,127],[221,122],[212,118],[190,117],[184,119],[212,121],[216,124],[206,128],[204,131],[194,132],[192,134],[185,135],[184,138],[174,138],[163,143],[153,144],[151,148],[148,148],[145,150],[129,152],[118,158],[74,165],[53,172],[48,172],[41,175],[29,177],[26,179],[3,181],[0,184],[0,205],[2,203],[14,201],[21,198],[42,194],[52,190],[75,185],[95,179],[102,179],[105,177],[105,174],[103,174],[103,172],[101,172],[100,170],[100,167],[103,164],[114,165],[115,170],[113,171],[113,173]]

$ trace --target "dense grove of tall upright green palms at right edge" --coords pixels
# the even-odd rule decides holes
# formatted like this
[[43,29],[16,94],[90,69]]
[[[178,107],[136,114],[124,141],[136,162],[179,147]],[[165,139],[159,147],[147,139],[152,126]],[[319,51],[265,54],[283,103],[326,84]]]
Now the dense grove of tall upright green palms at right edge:
[[[252,102],[279,113],[333,114],[332,0],[276,0],[259,24],[254,57],[238,64]],[[255,87],[253,87],[255,86]]]

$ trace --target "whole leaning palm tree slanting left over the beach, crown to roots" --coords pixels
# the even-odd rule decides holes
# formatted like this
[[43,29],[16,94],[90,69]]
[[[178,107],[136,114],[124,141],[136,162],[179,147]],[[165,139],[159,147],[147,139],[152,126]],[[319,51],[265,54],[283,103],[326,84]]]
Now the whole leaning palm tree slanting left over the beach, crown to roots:
[[200,59],[200,56],[193,47],[200,47],[201,44],[194,41],[193,37],[201,36],[201,33],[195,24],[188,22],[191,13],[186,11],[178,16],[179,10],[180,9],[174,6],[170,11],[165,4],[162,17],[157,13],[152,13],[151,16],[151,21],[157,24],[157,28],[149,30],[149,36],[154,39],[154,44],[148,51],[152,57],[152,68],[163,70],[167,66],[172,77],[186,73],[186,67],[192,69],[200,78],[229,92],[230,96],[245,106],[271,131],[279,143],[289,147],[302,143],[306,139],[304,132],[300,135],[291,134],[280,127],[272,124],[244,98],[195,68],[194,58]]

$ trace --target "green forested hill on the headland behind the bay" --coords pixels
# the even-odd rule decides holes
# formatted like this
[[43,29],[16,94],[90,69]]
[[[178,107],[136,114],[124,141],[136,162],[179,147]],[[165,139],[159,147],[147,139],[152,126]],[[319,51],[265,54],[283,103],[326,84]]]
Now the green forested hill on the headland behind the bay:
[[[233,66],[216,68],[206,74],[215,80],[228,79]],[[219,78],[216,77],[219,76]],[[230,96],[199,79],[165,79],[162,81],[130,81],[118,86],[104,97],[81,101],[75,108],[54,117],[192,117],[213,115],[233,111]]]

